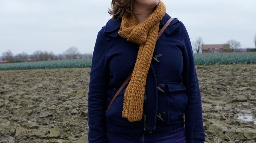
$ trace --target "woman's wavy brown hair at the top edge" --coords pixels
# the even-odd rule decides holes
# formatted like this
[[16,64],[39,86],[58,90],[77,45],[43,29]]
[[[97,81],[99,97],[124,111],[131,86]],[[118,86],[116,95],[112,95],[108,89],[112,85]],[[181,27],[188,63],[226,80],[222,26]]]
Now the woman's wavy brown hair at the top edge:
[[108,13],[112,16],[113,19],[120,20],[125,13],[132,13],[132,3],[134,0],[112,0],[111,8],[108,9]]

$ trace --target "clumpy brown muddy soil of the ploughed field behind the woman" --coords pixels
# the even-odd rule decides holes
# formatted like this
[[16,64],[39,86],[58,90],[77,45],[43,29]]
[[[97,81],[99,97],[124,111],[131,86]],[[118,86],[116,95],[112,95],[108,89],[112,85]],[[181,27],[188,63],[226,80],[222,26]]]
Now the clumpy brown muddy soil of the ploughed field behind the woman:
[[[256,64],[196,67],[206,142],[256,142]],[[89,73],[0,71],[0,143],[86,143]]]

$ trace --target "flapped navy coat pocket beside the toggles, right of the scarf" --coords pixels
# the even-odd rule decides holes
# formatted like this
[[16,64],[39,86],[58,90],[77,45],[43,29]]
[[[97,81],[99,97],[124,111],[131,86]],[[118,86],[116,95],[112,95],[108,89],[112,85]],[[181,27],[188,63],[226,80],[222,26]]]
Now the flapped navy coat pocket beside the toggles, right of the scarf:
[[183,118],[188,105],[188,97],[185,94],[186,87],[180,82],[167,82],[167,113],[168,124]]

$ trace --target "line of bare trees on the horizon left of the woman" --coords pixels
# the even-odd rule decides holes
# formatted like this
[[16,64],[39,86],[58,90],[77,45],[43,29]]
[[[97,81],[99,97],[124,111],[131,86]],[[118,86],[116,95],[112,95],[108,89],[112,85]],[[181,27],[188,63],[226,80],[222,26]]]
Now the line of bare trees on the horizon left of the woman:
[[70,47],[62,54],[55,55],[52,51],[36,50],[32,55],[25,52],[14,55],[11,50],[2,53],[2,61],[6,62],[27,62],[27,61],[47,61],[47,60],[63,60],[63,59],[82,59],[92,58],[92,54],[81,54],[77,47]]

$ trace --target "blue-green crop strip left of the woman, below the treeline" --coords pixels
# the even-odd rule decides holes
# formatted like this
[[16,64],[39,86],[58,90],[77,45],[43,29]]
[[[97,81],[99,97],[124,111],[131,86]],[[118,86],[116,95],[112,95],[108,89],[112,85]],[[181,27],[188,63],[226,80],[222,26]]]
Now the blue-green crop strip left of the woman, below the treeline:
[[19,62],[0,64],[0,70],[20,70],[20,69],[45,69],[45,68],[83,68],[91,67],[92,59],[71,59],[52,60],[38,62]]

